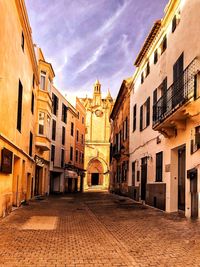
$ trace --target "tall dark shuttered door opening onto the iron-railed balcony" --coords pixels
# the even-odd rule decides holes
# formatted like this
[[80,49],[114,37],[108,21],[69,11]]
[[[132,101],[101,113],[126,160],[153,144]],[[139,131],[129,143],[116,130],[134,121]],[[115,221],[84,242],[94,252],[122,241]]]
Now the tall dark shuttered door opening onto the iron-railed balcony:
[[172,107],[176,107],[184,100],[184,77],[183,77],[184,54],[182,53],[173,66],[173,92]]

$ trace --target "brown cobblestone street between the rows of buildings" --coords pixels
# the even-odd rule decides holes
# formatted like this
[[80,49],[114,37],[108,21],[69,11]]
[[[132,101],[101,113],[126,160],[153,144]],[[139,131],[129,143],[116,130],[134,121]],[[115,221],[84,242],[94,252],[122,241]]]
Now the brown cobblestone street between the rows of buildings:
[[0,239],[0,266],[200,266],[199,222],[108,193],[31,201]]

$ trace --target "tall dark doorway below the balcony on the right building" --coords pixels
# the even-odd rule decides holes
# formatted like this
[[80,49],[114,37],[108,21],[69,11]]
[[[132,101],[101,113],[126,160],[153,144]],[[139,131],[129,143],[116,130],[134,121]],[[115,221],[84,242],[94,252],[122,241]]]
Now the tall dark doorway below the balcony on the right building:
[[185,147],[178,150],[178,209],[185,210]]

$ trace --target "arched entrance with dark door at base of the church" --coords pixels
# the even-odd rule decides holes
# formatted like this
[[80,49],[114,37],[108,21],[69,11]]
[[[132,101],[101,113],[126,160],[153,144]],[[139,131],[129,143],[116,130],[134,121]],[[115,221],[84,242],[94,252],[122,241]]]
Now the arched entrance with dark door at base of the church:
[[98,159],[93,159],[89,162],[87,174],[88,186],[103,185],[104,169]]

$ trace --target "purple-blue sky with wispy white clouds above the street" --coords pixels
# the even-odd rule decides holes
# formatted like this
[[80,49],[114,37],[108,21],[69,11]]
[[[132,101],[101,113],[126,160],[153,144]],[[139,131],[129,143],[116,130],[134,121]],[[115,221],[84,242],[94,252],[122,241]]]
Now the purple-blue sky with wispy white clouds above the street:
[[25,0],[33,41],[52,63],[54,85],[67,98],[92,95],[99,79],[103,95],[116,98],[123,79],[168,0]]

